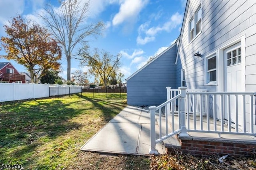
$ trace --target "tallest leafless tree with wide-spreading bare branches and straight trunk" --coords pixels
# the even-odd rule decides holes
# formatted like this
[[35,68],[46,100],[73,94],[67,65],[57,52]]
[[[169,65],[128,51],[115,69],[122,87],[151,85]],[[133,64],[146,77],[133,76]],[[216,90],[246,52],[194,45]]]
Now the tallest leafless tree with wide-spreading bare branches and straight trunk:
[[97,36],[104,29],[102,22],[87,23],[89,1],[60,0],[58,10],[48,4],[40,17],[48,30],[62,45],[67,59],[67,80],[70,80],[71,55],[78,43],[87,43],[88,36]]

